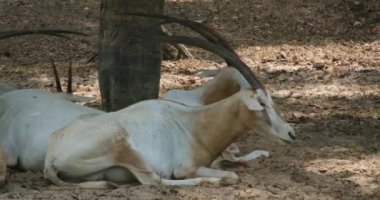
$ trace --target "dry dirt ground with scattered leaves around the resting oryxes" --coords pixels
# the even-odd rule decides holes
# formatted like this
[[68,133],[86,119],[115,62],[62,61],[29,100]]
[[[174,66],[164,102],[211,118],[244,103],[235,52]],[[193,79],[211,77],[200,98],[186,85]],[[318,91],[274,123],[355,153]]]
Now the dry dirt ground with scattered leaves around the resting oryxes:
[[[233,167],[237,185],[115,190],[51,185],[39,172],[10,172],[0,199],[380,199],[380,5],[378,0],[168,0],[165,12],[220,31],[274,93],[298,140],[291,145],[254,134],[243,152],[270,158]],[[98,0],[1,0],[1,30],[69,28],[90,37],[28,36],[0,43],[0,80],[54,91],[49,59],[64,74],[75,63],[76,94],[99,104],[95,62]],[[188,30],[169,27],[175,33]],[[162,63],[162,92],[206,81],[200,70],[222,67],[215,56]]]

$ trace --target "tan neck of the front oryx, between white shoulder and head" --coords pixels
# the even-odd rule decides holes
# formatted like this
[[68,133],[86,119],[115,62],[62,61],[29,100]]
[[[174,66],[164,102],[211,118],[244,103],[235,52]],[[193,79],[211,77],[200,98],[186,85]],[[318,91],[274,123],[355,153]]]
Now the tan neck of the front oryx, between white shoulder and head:
[[[222,100],[194,111],[192,134],[197,146],[206,149],[211,159],[216,158],[237,137],[249,132],[253,117],[238,98]],[[243,109],[242,109],[243,108]]]

